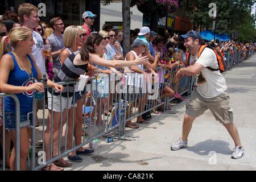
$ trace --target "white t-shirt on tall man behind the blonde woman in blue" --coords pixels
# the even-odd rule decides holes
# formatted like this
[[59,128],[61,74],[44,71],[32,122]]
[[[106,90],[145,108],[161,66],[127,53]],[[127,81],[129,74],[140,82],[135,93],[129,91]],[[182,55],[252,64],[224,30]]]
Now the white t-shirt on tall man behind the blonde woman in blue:
[[43,55],[43,38],[36,31],[33,31],[32,35],[35,42],[35,45],[32,47],[32,55],[35,58],[36,65],[38,65],[38,68],[44,75],[46,73],[46,58]]

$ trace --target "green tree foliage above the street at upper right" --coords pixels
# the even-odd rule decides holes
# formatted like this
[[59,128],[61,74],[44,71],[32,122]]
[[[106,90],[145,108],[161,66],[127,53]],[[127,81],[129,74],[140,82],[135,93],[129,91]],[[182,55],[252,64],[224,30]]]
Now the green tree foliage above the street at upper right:
[[189,3],[191,14],[189,17],[193,23],[211,28],[213,17],[209,16],[209,4],[217,5],[216,32],[232,34],[237,30],[239,40],[247,41],[255,38],[254,17],[251,16],[251,7],[254,0],[192,0]]

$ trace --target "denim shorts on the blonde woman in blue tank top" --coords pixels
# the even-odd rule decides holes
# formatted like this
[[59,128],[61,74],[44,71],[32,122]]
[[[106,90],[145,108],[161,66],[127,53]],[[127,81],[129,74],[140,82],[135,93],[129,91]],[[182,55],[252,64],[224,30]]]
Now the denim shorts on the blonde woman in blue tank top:
[[[32,125],[32,114],[27,118],[27,114],[20,114],[20,127]],[[5,128],[6,130],[16,129],[16,114],[14,112],[5,111]]]

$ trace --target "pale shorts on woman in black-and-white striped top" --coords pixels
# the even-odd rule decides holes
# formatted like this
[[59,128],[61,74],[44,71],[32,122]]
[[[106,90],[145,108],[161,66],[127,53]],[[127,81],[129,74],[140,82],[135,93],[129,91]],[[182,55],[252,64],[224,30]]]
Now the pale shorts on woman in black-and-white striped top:
[[61,96],[61,106],[60,106],[60,95],[56,96],[53,94],[53,109],[52,109],[52,93],[47,92],[48,97],[48,109],[53,110],[58,113],[62,113],[64,109],[70,109],[72,103],[72,97]]

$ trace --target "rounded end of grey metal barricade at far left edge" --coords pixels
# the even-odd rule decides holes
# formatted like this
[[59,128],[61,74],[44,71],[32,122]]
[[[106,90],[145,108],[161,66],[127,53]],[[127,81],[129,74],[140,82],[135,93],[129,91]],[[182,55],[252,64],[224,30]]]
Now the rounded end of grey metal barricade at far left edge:
[[[6,150],[9,152],[10,149],[9,148],[5,148],[6,147],[6,142],[5,142],[5,97],[11,97],[13,98],[13,100],[15,101],[15,114],[16,114],[16,146],[15,146],[15,169],[17,171],[20,170],[20,105],[19,105],[19,100],[18,97],[15,96],[15,94],[6,94],[6,93],[0,93],[0,98],[2,98],[2,103],[3,103],[3,110],[2,110],[2,131],[1,131],[1,135],[0,138],[2,138],[1,144],[2,144],[2,170],[5,171],[6,170],[6,161],[5,161],[5,157],[6,157]],[[0,116],[1,117],[1,116]]]

